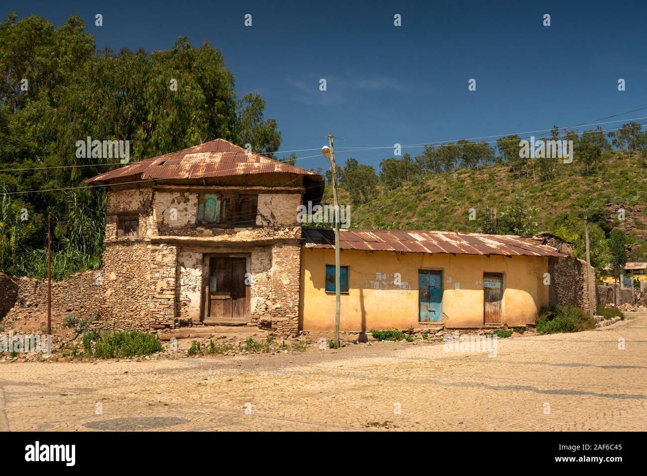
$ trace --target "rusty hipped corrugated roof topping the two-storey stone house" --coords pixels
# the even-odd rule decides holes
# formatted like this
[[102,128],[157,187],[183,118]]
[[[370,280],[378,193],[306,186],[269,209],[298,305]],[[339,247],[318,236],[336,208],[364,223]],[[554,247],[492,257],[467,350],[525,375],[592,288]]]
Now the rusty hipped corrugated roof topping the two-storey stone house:
[[116,168],[87,179],[87,182],[111,181],[112,179],[135,176],[141,180],[199,179],[272,172],[318,175],[305,168],[275,161],[258,153],[247,155],[244,148],[225,141],[225,139],[216,139],[178,152],[151,157]]

